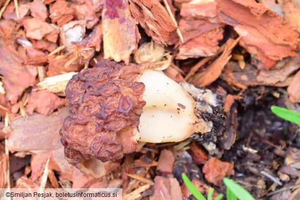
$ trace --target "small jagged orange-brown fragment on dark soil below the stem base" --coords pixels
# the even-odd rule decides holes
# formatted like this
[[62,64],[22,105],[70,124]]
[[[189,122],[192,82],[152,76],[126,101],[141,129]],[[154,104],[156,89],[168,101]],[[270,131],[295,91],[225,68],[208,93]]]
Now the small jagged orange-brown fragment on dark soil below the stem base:
[[216,186],[222,185],[222,179],[225,176],[233,175],[233,164],[222,162],[215,157],[209,158],[208,162],[203,166],[202,172],[209,183]]

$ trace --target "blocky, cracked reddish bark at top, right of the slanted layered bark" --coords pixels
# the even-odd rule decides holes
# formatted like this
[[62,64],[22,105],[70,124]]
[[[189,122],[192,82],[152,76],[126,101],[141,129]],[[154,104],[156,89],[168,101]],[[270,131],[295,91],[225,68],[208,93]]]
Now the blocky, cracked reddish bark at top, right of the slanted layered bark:
[[218,41],[223,39],[223,24],[217,21],[217,4],[192,1],[182,4],[179,29],[184,44],[179,47],[177,59],[211,56],[218,50]]

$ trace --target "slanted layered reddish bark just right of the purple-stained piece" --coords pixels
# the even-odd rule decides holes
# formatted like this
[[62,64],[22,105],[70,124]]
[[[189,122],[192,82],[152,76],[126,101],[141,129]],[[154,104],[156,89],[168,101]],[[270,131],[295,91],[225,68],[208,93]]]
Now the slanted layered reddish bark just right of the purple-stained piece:
[[177,27],[158,0],[129,0],[129,2],[132,16],[155,43],[167,46],[178,42]]

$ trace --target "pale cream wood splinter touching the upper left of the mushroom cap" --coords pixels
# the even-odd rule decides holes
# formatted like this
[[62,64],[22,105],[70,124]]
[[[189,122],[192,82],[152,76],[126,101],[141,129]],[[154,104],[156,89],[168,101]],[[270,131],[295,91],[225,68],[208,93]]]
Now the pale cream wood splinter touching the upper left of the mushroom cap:
[[77,72],[68,72],[56,76],[51,76],[45,78],[42,82],[36,84],[37,88],[35,90],[47,90],[53,93],[64,92],[69,80]]

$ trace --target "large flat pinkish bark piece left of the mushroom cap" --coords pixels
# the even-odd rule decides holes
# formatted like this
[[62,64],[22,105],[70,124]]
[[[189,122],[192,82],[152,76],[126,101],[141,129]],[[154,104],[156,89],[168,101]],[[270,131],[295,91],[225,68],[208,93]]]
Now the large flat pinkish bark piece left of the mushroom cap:
[[68,109],[62,108],[48,116],[33,113],[28,118],[15,118],[4,130],[9,133],[9,151],[41,153],[61,148],[58,131],[67,115]]

